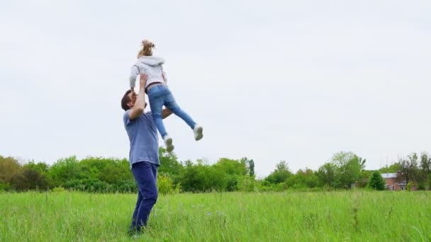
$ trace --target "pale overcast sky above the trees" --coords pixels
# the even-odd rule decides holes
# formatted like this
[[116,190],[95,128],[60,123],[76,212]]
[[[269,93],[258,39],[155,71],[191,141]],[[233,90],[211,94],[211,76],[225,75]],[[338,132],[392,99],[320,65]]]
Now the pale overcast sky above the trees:
[[[144,38],[177,102],[181,161],[379,168],[431,151],[431,1],[2,1],[0,155],[128,157],[120,100]],[[160,144],[162,144],[160,139]]]

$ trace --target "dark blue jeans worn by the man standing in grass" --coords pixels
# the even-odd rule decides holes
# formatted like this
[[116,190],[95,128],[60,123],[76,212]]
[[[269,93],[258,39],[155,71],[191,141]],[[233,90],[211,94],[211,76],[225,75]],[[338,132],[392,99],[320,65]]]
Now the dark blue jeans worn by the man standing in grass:
[[157,165],[146,161],[134,163],[132,173],[138,184],[138,201],[133,212],[130,232],[147,226],[152,207],[157,201]]

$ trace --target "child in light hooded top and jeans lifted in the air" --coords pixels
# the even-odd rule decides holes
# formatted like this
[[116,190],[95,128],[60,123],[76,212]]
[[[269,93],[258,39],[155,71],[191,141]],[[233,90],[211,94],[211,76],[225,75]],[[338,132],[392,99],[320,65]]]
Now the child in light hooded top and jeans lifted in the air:
[[203,137],[203,128],[196,124],[191,117],[185,113],[179,105],[175,102],[174,96],[172,96],[171,91],[167,86],[166,73],[163,71],[162,64],[164,60],[159,57],[152,56],[152,48],[155,45],[148,41],[142,41],[142,50],[138,52],[138,62],[133,65],[130,71],[130,89],[135,88],[136,76],[138,74],[147,74],[147,85],[145,86],[145,93],[148,95],[150,100],[150,108],[152,112],[152,119],[155,122],[159,133],[164,140],[166,149],[168,152],[174,149],[172,144],[172,137],[167,134],[166,129],[164,129],[162,121],[162,107],[163,105],[172,111],[178,117],[181,117],[184,122],[187,123],[193,129],[194,139],[199,140]]

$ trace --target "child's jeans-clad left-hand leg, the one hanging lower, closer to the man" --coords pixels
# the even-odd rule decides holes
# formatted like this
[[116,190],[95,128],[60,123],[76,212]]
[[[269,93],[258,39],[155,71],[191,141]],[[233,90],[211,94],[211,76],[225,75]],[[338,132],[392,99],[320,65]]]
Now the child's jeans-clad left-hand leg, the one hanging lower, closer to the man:
[[164,103],[164,96],[159,86],[153,86],[148,91],[148,99],[150,100],[150,108],[152,119],[155,122],[160,135],[164,138],[167,135],[166,129],[162,121],[162,108]]

